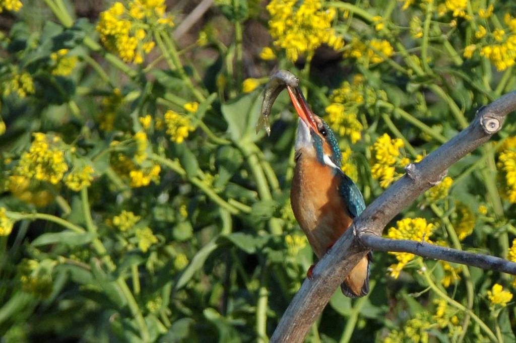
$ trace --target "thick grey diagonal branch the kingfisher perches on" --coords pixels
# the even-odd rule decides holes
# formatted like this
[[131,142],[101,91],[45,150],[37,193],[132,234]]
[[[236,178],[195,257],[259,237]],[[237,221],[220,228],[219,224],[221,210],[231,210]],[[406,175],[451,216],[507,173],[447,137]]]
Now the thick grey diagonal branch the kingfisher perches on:
[[[357,236],[381,236],[383,228],[420,194],[438,183],[446,170],[460,158],[477,149],[502,128],[508,113],[516,110],[516,92],[499,97],[477,111],[475,119],[457,136],[440,146],[417,164],[407,166],[407,174],[385,190],[355,220],[306,279],[286,309],[271,342],[302,342],[310,326],[326,306],[335,289],[370,249]],[[367,238],[366,238],[367,239]]]

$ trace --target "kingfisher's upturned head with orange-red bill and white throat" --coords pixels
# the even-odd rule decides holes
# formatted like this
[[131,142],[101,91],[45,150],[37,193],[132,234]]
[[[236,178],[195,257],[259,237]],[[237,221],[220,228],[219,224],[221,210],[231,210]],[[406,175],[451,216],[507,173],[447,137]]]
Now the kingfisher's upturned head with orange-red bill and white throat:
[[299,116],[296,156],[307,153],[315,156],[322,165],[340,169],[342,154],[333,131],[312,112],[299,88],[287,86],[287,90]]

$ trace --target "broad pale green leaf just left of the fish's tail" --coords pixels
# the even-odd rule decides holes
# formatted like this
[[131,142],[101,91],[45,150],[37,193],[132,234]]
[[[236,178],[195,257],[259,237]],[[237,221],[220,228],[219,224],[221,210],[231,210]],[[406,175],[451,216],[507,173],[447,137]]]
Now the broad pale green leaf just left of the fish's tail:
[[221,106],[222,115],[228,122],[228,133],[234,142],[245,139],[254,142],[261,137],[255,132],[262,106],[260,94],[260,92],[245,94]]

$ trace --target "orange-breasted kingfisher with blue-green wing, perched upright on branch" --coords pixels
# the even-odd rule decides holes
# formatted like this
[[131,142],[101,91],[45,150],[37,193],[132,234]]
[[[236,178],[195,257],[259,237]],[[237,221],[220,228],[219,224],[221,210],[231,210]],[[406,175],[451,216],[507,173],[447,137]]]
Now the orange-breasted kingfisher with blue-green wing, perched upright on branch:
[[[365,209],[357,185],[341,169],[342,154],[328,124],[310,109],[299,87],[287,86],[299,116],[296,168],[291,188],[294,216],[320,259]],[[371,253],[346,276],[341,290],[350,298],[369,292]],[[312,265],[307,272],[312,277]]]

